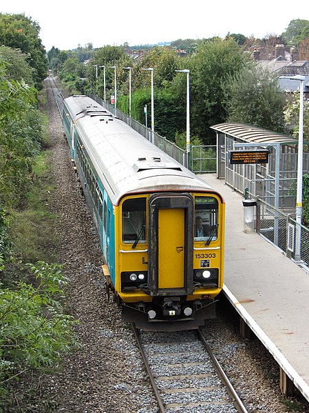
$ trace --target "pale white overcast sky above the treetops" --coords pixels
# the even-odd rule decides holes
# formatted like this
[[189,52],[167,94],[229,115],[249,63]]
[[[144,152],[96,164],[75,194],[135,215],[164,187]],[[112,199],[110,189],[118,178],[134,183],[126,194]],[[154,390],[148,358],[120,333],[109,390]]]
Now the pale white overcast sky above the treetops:
[[92,43],[129,46],[178,39],[224,38],[240,33],[257,38],[281,34],[293,19],[309,20],[308,0],[295,7],[259,0],[1,1],[1,13],[24,13],[39,23],[46,51]]

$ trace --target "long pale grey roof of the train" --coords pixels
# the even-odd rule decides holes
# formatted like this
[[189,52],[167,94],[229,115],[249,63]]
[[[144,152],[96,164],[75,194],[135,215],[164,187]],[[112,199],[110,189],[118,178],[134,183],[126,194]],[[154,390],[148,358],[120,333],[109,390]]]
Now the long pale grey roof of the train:
[[96,101],[73,96],[64,103],[114,205],[130,193],[217,193]]

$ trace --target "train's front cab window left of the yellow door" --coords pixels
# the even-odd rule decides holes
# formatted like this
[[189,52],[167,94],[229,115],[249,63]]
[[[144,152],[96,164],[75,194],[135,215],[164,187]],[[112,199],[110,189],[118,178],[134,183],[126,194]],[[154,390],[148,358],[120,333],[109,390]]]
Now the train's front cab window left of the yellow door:
[[122,241],[131,243],[146,242],[146,198],[127,199],[122,203]]

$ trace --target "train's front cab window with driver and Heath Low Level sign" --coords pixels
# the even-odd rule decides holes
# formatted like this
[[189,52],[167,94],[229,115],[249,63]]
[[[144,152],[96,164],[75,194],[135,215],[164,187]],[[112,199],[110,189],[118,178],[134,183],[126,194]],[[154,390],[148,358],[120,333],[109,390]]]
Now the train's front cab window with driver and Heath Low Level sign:
[[195,197],[194,241],[217,239],[218,202],[214,197]]

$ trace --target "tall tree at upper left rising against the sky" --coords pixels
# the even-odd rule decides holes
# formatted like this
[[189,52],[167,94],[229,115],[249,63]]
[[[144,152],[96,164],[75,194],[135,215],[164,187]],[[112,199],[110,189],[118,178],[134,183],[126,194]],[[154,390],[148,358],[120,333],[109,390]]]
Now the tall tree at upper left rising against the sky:
[[0,14],[0,43],[20,49],[28,56],[28,63],[34,69],[34,83],[40,89],[46,76],[47,58],[39,38],[40,26],[25,14]]

